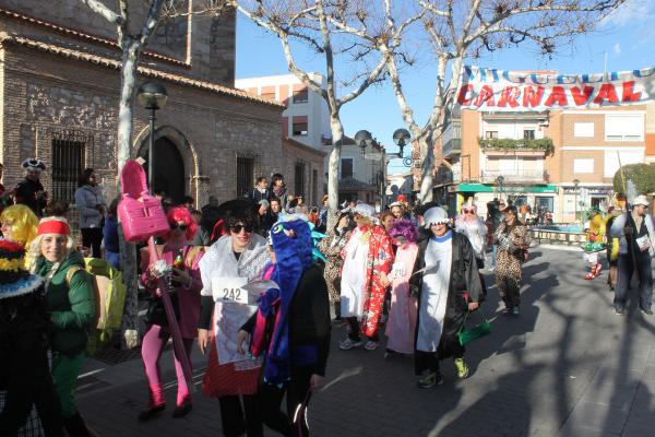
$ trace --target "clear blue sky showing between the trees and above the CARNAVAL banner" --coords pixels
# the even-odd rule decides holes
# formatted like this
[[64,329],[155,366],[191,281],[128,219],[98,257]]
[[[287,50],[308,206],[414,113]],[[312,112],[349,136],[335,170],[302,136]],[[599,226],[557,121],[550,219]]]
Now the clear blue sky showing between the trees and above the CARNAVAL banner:
[[[533,50],[510,49],[478,60],[480,67],[503,70],[553,69],[562,73],[603,72],[605,54],[607,70],[632,70],[655,66],[655,0],[628,0],[627,4],[605,20],[598,29],[575,39],[548,59]],[[420,42],[417,43],[420,45]],[[308,71],[324,71],[321,57],[299,51],[299,67]],[[425,55],[428,55],[427,52]],[[237,22],[237,78],[286,74],[287,67],[277,38],[266,34],[239,16]],[[338,74],[338,70],[337,70]],[[434,67],[429,56],[403,75],[404,87],[419,125],[427,120],[434,88]],[[397,151],[391,139],[393,131],[404,128],[401,113],[388,83],[367,90],[342,108],[342,121],[347,134],[369,130],[390,152]],[[389,172],[407,168],[392,160]]]

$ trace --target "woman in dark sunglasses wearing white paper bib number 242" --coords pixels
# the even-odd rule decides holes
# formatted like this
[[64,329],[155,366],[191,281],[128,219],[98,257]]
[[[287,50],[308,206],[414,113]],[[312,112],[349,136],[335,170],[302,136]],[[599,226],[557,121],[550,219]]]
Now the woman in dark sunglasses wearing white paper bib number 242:
[[257,208],[249,199],[219,205],[227,234],[207,249],[200,263],[203,288],[198,343],[203,354],[210,352],[202,391],[218,398],[226,437],[263,435],[257,399],[261,362],[240,356],[236,349],[239,328],[255,310],[248,299],[240,298],[240,287],[261,279],[270,262],[266,239],[255,233]]

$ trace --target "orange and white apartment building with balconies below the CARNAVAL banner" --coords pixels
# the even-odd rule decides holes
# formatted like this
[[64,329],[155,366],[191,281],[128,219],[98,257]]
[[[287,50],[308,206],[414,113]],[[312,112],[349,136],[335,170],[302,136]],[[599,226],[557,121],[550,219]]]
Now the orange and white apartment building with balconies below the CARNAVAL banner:
[[620,165],[646,158],[646,106],[544,113],[464,110],[443,135],[452,163],[436,194],[451,210],[473,197],[545,205],[558,222],[607,206]]

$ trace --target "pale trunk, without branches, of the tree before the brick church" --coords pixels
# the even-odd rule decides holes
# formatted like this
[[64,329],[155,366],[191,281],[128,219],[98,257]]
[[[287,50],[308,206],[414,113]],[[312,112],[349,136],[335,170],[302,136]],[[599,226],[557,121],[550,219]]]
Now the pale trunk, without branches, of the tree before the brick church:
[[[140,42],[129,36],[122,40],[123,57],[121,69],[120,104],[118,113],[118,185],[120,172],[132,155],[134,88],[136,83],[136,64],[139,60]],[[120,187],[119,187],[120,190]],[[119,223],[120,269],[123,283],[128,291],[122,318],[123,347],[131,349],[139,344],[139,302],[136,283],[136,248],[133,243],[124,240]]]

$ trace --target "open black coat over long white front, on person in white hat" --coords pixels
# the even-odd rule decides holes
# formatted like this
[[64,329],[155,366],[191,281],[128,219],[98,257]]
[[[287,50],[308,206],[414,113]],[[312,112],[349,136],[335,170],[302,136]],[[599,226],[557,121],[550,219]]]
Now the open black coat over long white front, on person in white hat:
[[[484,300],[484,288],[477,269],[475,251],[465,235],[452,231],[453,258],[451,263],[450,287],[445,307],[445,318],[443,320],[443,331],[439,344],[439,358],[448,358],[452,355],[453,342],[458,342],[457,333],[464,326],[466,312],[468,312],[468,303]],[[426,267],[426,249],[429,238],[418,243],[418,255],[414,263],[413,272],[417,272]],[[416,322],[416,335],[420,326],[420,294],[422,288],[422,273],[413,274],[409,279],[412,291],[418,295],[418,317]],[[468,300],[466,300],[468,294]],[[458,343],[457,343],[458,344]],[[417,354],[418,355],[418,354]],[[417,371],[422,370],[421,364],[416,363]]]

